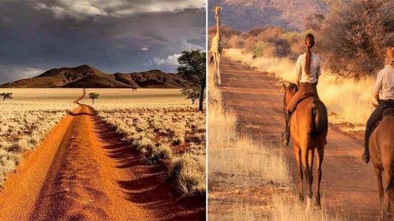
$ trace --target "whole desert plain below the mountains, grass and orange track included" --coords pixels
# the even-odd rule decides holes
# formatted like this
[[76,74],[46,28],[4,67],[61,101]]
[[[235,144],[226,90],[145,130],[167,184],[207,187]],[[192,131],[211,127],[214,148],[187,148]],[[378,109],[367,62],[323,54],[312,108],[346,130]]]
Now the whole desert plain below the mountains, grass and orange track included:
[[0,111],[0,220],[205,219],[205,112],[179,89],[0,92],[13,97]]

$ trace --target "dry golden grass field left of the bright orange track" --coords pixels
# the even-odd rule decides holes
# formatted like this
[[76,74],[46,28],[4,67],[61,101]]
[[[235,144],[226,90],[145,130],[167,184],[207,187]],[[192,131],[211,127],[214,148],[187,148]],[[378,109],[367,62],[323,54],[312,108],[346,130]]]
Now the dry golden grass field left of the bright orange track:
[[0,89],[13,99],[0,101],[0,187],[22,160],[22,152],[33,150],[68,111],[74,110],[81,89]]

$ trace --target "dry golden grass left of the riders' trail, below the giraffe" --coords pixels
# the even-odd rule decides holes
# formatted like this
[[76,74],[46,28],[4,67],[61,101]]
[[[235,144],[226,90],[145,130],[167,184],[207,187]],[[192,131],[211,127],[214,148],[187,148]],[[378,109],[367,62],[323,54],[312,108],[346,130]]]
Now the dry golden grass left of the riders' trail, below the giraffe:
[[[236,113],[223,108],[222,94],[213,84],[211,69],[208,73],[208,217],[245,220],[261,208],[245,199],[239,189],[269,186],[272,181],[275,186],[286,186],[290,183],[288,166],[283,156],[236,131]],[[240,210],[244,207],[248,208],[245,213]],[[255,220],[262,217],[265,215]]]

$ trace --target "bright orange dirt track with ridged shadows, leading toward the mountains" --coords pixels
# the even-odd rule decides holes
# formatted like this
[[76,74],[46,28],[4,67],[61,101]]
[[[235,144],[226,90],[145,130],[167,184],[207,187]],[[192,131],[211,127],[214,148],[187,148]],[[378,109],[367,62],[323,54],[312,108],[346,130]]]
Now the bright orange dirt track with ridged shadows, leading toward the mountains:
[[176,201],[163,166],[141,165],[121,138],[79,104],[9,175],[0,220],[205,219],[204,205]]

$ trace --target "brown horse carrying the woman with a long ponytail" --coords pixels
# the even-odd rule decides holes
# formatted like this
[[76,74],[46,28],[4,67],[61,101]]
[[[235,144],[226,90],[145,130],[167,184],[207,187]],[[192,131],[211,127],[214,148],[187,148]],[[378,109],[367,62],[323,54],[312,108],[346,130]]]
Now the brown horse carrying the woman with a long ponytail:
[[[296,84],[290,83],[285,88],[284,109],[287,110],[287,105],[291,98],[298,90]],[[308,184],[308,199],[306,210],[310,209],[312,200],[312,166],[315,149],[318,153],[318,162],[316,168],[316,206],[320,208],[320,181],[322,180],[322,162],[324,156],[324,146],[328,133],[328,117],[326,106],[314,96],[309,96],[302,99],[296,110],[293,112],[290,120],[290,135],[293,141],[294,153],[296,155],[297,169],[298,169],[298,185],[299,197],[304,199],[302,191],[302,165],[305,169],[305,178]]]

